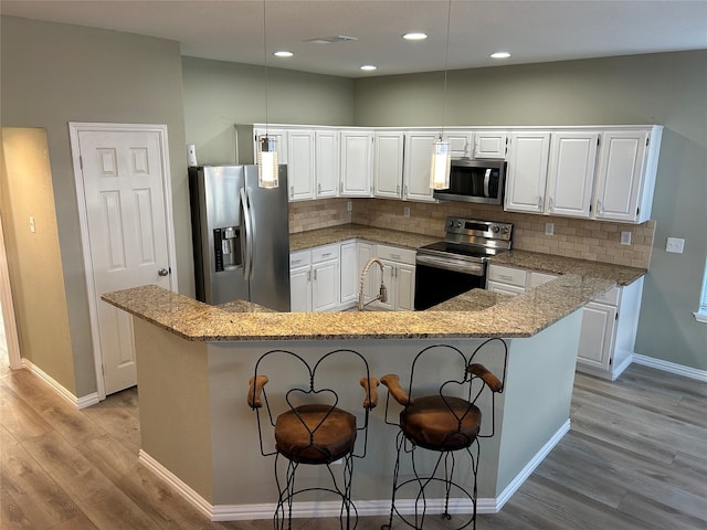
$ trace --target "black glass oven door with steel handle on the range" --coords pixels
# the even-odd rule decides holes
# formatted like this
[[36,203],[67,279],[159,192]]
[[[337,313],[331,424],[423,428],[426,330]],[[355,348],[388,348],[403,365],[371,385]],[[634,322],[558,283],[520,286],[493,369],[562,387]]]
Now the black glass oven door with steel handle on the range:
[[418,253],[415,311],[429,309],[474,288],[484,288],[486,264]]

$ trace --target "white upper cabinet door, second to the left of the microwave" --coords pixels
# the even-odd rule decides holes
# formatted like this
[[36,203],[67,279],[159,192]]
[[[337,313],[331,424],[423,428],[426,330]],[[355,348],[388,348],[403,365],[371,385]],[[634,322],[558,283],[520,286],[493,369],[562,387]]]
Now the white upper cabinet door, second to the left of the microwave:
[[388,199],[402,197],[402,132],[377,132],[373,142],[373,194]]

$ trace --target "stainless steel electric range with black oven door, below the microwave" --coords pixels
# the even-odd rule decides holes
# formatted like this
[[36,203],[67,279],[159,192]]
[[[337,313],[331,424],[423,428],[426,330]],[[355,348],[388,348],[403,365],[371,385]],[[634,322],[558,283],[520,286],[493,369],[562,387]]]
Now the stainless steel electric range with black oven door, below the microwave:
[[444,241],[418,248],[415,310],[486,285],[486,262],[508,252],[513,224],[447,218]]

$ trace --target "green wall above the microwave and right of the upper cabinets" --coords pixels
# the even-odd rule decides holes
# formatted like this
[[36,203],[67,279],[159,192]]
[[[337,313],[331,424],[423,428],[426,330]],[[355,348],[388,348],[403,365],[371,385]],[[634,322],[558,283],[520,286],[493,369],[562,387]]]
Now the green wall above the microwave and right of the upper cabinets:
[[[635,352],[707,370],[707,326],[692,315],[707,254],[707,51],[453,71],[443,87],[441,73],[357,80],[356,124],[665,126]],[[667,236],[685,253],[666,253]]]

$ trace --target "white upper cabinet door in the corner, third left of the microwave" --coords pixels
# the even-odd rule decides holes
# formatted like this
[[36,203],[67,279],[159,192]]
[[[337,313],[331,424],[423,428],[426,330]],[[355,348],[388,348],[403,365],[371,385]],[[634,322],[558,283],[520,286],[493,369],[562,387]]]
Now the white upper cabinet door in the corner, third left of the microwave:
[[341,132],[340,195],[371,197],[372,142],[370,131]]

